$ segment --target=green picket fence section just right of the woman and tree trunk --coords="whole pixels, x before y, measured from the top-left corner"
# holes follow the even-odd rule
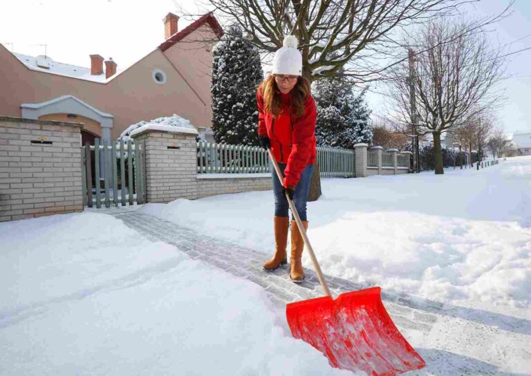
[[[333,147],[317,147],[319,173],[322,178],[354,178],[355,151]]]

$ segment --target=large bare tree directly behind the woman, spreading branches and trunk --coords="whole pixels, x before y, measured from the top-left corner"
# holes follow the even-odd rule
[[[354,0],[256,1],[204,0],[216,9],[223,23],[238,23],[264,57],[282,46],[285,35],[295,35],[302,53],[302,75],[313,82],[345,75],[358,82],[379,77],[400,48],[389,37],[412,23],[426,22],[444,12],[454,12],[461,0]],[[205,40],[202,40],[205,41]],[[380,56],[375,59],[376,54]],[[309,201],[321,195],[319,166],[310,181]]]

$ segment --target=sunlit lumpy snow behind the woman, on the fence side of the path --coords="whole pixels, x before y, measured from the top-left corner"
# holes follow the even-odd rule
[[[322,191],[308,203],[308,236],[326,274],[444,303],[530,308],[531,157],[444,176],[328,178]],[[263,250],[265,260],[273,203],[272,191],[259,191],[142,211]],[[303,263],[312,268],[307,252]]]

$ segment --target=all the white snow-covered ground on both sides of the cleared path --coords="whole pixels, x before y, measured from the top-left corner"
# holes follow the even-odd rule
[[[485,312],[477,341],[464,341],[481,326],[466,315],[408,339],[490,374],[531,374],[531,157],[444,176],[323,179],[322,191],[308,203],[308,236],[326,274]],[[264,259],[272,250],[272,191],[139,210]],[[0,375],[351,374],[292,339],[258,285],[101,212],[0,223],[0,240]]]

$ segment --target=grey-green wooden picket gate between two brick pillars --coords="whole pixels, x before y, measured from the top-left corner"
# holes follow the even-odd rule
[[[102,203],[105,207],[145,203],[144,169],[144,151],[131,140],[115,143],[96,138],[93,145],[86,142],[82,147],[83,205],[100,208]]]

